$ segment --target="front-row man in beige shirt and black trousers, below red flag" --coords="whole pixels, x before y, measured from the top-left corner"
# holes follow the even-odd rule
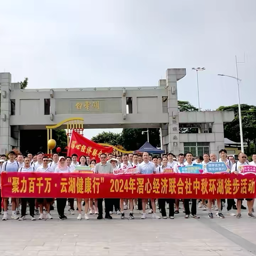
[[[100,155],[100,163],[95,165],[95,173],[104,173],[104,174],[113,173],[113,168],[110,163],[107,163],[107,155],[105,153],[102,153]],[[103,203],[103,198],[98,198],[98,209],[99,209],[99,215],[97,217],[98,220],[103,219],[102,203]],[[111,198],[105,198],[105,219],[108,219],[108,220],[112,219],[112,217],[109,214],[110,211],[113,211],[113,203],[111,201]]]

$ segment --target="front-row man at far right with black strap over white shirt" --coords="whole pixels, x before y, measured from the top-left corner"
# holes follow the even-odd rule
[[[236,162],[232,169],[231,169],[231,173],[236,173],[239,174],[241,173],[241,168],[239,168],[239,166],[242,165],[248,165],[248,163],[246,162],[247,156],[244,153],[239,153],[238,154],[238,162]],[[245,199],[247,201],[247,206],[248,206],[248,217],[251,218],[255,218],[255,216],[252,214],[252,208],[253,208],[253,200],[252,198],[246,198]],[[242,201],[243,199],[237,199],[237,215],[236,218],[241,218],[241,205],[242,205]]]

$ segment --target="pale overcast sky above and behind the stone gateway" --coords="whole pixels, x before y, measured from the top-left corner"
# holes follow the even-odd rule
[[[255,0],[11,0],[0,4],[0,72],[29,89],[156,86],[186,68],[178,99],[255,104]],[[106,129],[107,131],[109,129]],[[86,130],[87,138],[102,129]],[[121,129],[113,130],[121,132]]]

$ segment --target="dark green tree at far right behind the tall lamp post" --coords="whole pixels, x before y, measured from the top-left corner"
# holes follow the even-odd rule
[[[217,111],[234,111],[232,122],[224,124],[224,136],[235,142],[241,142],[239,130],[238,105],[220,106]],[[250,154],[251,142],[256,146],[256,106],[241,104],[243,139],[247,143],[246,151]]]

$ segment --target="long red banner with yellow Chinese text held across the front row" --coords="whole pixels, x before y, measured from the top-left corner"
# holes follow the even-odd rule
[[[255,198],[255,174],[2,173],[2,197]]]

